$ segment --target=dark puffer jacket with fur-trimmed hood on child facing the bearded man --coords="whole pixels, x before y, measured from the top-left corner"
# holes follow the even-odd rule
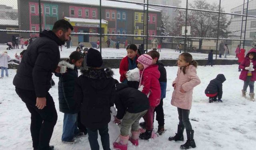
[[[75,81],[78,78],[78,71],[74,64],[63,60],[58,65],[67,66],[67,72],[64,74],[55,73],[59,77],[58,96],[60,112],[75,114],[79,111],[74,100]]]

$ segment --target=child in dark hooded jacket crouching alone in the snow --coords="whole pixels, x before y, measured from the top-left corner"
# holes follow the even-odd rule
[[[209,97],[209,103],[216,102],[218,97],[218,102],[222,102],[222,83],[226,81],[224,74],[218,74],[217,77],[210,81],[204,93]]]

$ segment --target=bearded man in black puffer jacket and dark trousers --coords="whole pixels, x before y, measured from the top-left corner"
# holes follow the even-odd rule
[[[52,72],[60,72],[61,46],[69,39],[73,27],[66,20],[58,20],[53,29],[40,33],[23,54],[14,77],[16,93],[31,113],[30,131],[34,150],[52,150],[49,146],[57,121],[57,112],[49,94]]]

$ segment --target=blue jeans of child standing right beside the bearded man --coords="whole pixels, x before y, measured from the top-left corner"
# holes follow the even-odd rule
[[[79,133],[77,128],[77,114],[64,113],[62,141],[70,141]]]

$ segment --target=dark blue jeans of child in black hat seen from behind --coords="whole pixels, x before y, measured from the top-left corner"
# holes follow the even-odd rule
[[[102,143],[103,150],[110,150],[108,124],[99,129],[92,130],[87,128],[87,130],[91,150],[100,150],[100,146],[98,143],[98,130],[100,133],[100,140]]]

